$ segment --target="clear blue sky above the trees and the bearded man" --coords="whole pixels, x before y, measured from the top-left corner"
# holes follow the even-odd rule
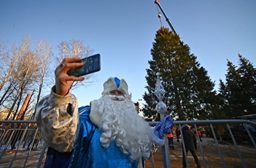
[[[160,0],[177,33],[191,48],[216,89],[225,80],[227,59],[238,53],[256,63],[256,0]],[[160,28],[154,0],[0,0],[0,41],[82,40],[102,56],[98,81],[73,93],[79,106],[98,99],[110,76],[124,78],[138,101],[146,91],[150,49]],[[160,10],[159,10],[160,11]],[[169,27],[162,15],[162,24]]]

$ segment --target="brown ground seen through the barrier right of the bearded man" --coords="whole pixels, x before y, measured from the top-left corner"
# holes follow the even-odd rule
[[[204,154],[205,162],[207,168],[223,168],[223,163],[220,158],[220,154],[217,150],[215,141],[213,138],[202,138],[201,142],[202,151]],[[182,145],[181,142],[177,142],[174,139],[175,149],[169,149],[170,159],[171,159],[171,168],[182,168]],[[241,159],[235,148],[234,144],[231,142],[226,142],[220,145],[220,150],[223,155],[224,162],[227,168],[243,168]],[[256,168],[256,149],[250,144],[238,145],[238,149],[241,152],[241,155],[245,161],[247,168]],[[201,154],[200,148],[197,149],[198,158],[201,162],[202,168],[206,168],[203,162],[203,156]],[[196,168],[194,159],[190,152],[188,152],[188,162],[190,168]],[[152,159],[151,159],[152,160]],[[151,160],[147,160],[145,167],[153,168]],[[157,152],[153,155],[154,168],[163,168],[162,163],[162,149],[158,149]]]

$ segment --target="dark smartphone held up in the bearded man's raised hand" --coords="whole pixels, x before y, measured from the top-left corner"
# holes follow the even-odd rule
[[[85,57],[79,62],[83,62],[83,66],[70,69],[67,72],[69,76],[84,76],[100,70],[100,54]]]

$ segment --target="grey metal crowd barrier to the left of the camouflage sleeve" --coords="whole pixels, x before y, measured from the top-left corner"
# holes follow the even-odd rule
[[[46,144],[35,121],[0,121],[0,168],[40,168]]]

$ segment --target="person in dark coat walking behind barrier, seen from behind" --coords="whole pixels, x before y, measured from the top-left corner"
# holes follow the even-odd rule
[[[182,132],[182,139],[185,146],[186,156],[187,156],[187,152],[190,151],[192,156],[194,157],[197,168],[201,168],[201,163],[198,160],[198,157],[195,152],[195,150],[197,149],[195,134],[193,133],[193,131],[190,130],[190,126],[187,124],[182,125],[181,129],[182,131],[179,131],[179,132]],[[182,145],[182,165],[183,165],[182,168],[187,168],[183,145]]]

